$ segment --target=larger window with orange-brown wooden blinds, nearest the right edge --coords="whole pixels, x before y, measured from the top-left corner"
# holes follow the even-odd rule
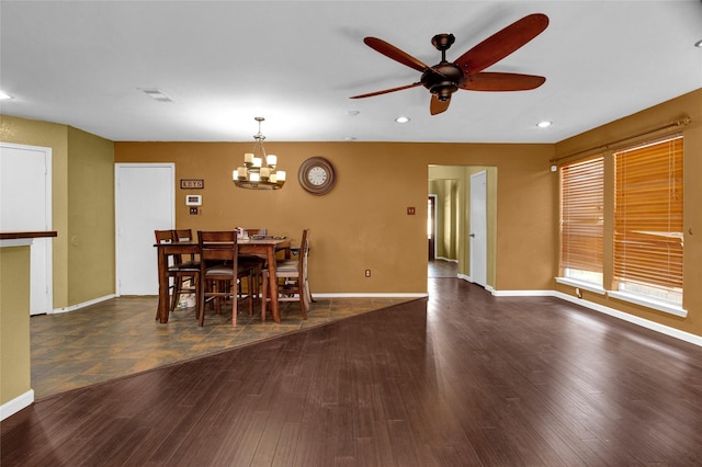
[[[682,138],[614,153],[614,282],[682,303]]]

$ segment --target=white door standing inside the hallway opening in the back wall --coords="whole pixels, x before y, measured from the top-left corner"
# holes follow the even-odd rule
[[[471,175],[471,281],[487,286],[487,171]]]

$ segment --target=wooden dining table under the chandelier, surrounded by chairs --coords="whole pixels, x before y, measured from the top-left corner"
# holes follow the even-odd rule
[[[248,237],[238,239],[237,244],[240,255],[256,254],[265,257],[270,277],[275,277],[275,263],[279,252],[284,252],[285,259],[291,258],[291,241],[287,238]],[[170,243],[155,243],[154,247],[157,248],[158,257],[158,317],[159,322],[167,323],[170,315],[168,259],[172,254],[197,254],[200,250],[200,243],[197,243],[196,241],[173,241]],[[269,297],[271,297],[273,321],[281,322],[275,281],[269,281]]]

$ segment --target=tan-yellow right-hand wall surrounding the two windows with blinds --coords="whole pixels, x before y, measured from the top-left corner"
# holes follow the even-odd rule
[[[692,119],[689,125],[630,138],[631,136],[642,135],[643,133],[659,128],[671,122],[679,121],[683,115]],[[700,175],[702,175],[702,90],[681,95],[660,105],[561,141],[556,145],[556,156],[562,158],[561,161],[569,162],[589,155],[604,153],[605,163],[609,163],[611,167],[611,157],[609,155],[611,155],[613,150],[676,132],[681,132],[684,137],[684,284],[682,305],[683,308],[688,310],[687,318],[630,305],[607,296],[588,293],[587,291],[584,292],[584,298],[647,320],[702,335],[702,184],[700,183]],[[558,176],[555,173],[552,176],[552,192],[553,198],[558,200]],[[558,218],[557,202],[555,203],[555,208],[554,217]],[[611,217],[611,209],[609,214],[605,212],[605,216],[608,215]],[[610,221],[609,225],[611,224]],[[556,224],[553,228],[554,235],[556,236],[557,229],[558,225]],[[556,271],[555,274],[557,274],[557,243],[554,243],[553,257],[556,261],[553,264],[553,269]],[[612,253],[609,251],[604,254],[604,271],[611,271],[611,269]],[[611,274],[605,274],[605,285],[611,283]],[[608,288],[610,287],[611,285]],[[569,286],[554,283],[553,288],[574,295],[574,289]]]

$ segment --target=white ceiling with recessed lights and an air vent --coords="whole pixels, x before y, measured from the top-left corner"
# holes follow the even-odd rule
[[[434,65],[433,35],[453,60],[537,12],[546,31],[486,70],[536,90],[460,90],[435,116],[422,87],[349,99],[419,80],[365,36]],[[702,87],[699,0],[1,0],[0,26],[0,112],[115,141],[252,141],[263,116],[269,141],[556,143]]]

